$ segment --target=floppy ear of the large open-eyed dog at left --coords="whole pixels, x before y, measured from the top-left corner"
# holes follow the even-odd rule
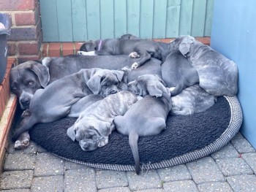
[[[50,74],[49,74],[49,69],[46,66],[43,66],[42,64],[39,63],[34,63],[31,64],[30,70],[37,74],[38,80],[43,88],[46,87],[50,80]]]

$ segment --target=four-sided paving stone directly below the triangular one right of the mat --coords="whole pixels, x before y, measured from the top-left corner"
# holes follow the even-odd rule
[[[216,163],[226,177],[236,174],[253,174],[243,158],[222,158],[217,159]]]

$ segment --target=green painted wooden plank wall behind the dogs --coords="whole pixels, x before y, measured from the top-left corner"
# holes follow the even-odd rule
[[[40,0],[44,42],[211,36],[214,0]]]

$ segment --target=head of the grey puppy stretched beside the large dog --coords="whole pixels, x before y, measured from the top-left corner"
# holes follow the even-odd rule
[[[94,95],[106,97],[118,92],[118,84],[123,77],[123,71],[101,69],[95,72],[86,84]]]

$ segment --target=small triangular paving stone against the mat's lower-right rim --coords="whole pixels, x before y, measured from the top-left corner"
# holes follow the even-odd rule
[[[217,152],[211,154],[214,159],[217,158],[238,158],[239,153],[236,148],[229,142],[225,147],[222,147]]]

